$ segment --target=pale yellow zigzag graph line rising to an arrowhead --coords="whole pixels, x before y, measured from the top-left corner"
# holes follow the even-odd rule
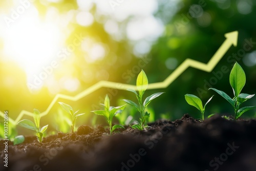
[[[216,65],[219,63],[221,58],[225,55],[225,53],[228,51],[228,49],[233,45],[234,47],[237,46],[238,41],[238,31],[233,31],[230,33],[225,34],[225,41],[221,45],[221,47],[216,51],[216,53],[211,57],[211,59],[207,63],[203,63],[194,59],[187,58],[185,59],[180,66],[178,66],[165,80],[162,82],[155,82],[148,84],[147,89],[164,89],[167,88],[170,84],[173,83],[187,68],[195,68],[201,71],[205,72],[211,72]],[[82,91],[81,93],[75,95],[75,96],[69,96],[65,94],[57,94],[51,103],[49,104],[46,111],[41,112],[41,117],[46,116],[50,110],[52,109],[53,105],[58,101],[58,99],[66,99],[70,101],[77,101],[83,97],[86,97],[87,95],[95,92],[96,90],[100,88],[112,88],[117,90],[127,90],[127,89],[134,89],[137,90],[135,85],[132,84],[124,84],[119,82],[111,82],[111,81],[99,81],[93,86],[89,87],[88,89]],[[29,111],[20,111],[19,115],[15,120],[9,117],[9,122],[12,124],[16,124],[24,115],[28,115],[33,117],[33,113]],[[4,117],[4,113],[0,111],[0,116]]]

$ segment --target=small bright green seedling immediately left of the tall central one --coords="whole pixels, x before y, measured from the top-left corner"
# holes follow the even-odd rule
[[[91,112],[95,113],[96,115],[102,115],[106,118],[106,121],[108,121],[109,123],[110,135],[112,135],[113,131],[116,130],[117,128],[124,129],[122,125],[118,125],[118,124],[112,126],[112,120],[115,115],[122,113],[126,104],[117,106],[117,107],[110,106],[110,98],[108,95],[106,95],[104,104],[101,104],[101,105],[104,106],[104,110],[91,111]]]

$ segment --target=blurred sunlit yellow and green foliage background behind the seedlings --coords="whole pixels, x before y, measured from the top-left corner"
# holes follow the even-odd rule
[[[230,72],[237,60],[247,76],[243,93],[254,94],[256,43],[249,51],[244,46],[256,42],[255,17],[253,0],[0,1],[0,111],[8,110],[12,119],[22,110],[43,112],[58,93],[75,96],[100,80],[135,84],[141,69],[150,83],[163,81],[186,58],[208,62],[225,41],[224,34],[236,30],[238,46],[230,47],[214,72],[223,66]],[[231,96],[229,72],[211,86]],[[199,111],[186,103],[184,95],[195,94],[205,103],[216,94],[204,89],[212,77],[216,77],[213,72],[189,68],[168,88],[148,90],[145,96],[166,92],[150,104],[150,120],[175,120],[186,113],[199,118]],[[77,126],[106,125],[90,112],[100,109],[105,94],[113,106],[124,104],[123,98],[136,100],[131,92],[101,88],[78,101],[58,101],[86,113]],[[253,98],[246,105],[255,103]],[[207,107],[206,116],[233,114],[217,94]],[[138,113],[127,106],[122,115],[136,118]],[[255,110],[243,115],[255,116]],[[69,132],[68,117],[56,103],[41,124],[49,124],[48,134]],[[31,134],[17,128],[16,134]]]

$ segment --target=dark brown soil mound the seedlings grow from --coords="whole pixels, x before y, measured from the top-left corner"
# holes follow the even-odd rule
[[[256,170],[256,120],[216,115],[200,122],[184,115],[148,125],[112,136],[101,126],[82,125],[76,133],[58,133],[42,143],[35,137],[15,146],[9,142],[8,168],[1,162],[0,170]]]

